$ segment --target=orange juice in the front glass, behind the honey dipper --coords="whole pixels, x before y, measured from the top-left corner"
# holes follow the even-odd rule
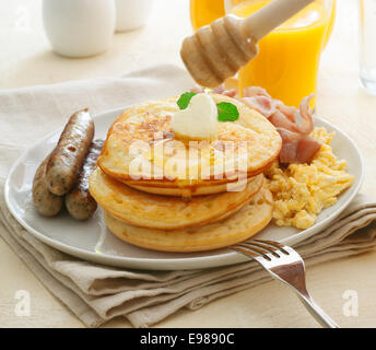
[[[270,0],[243,1],[232,13],[246,18]],[[259,42],[259,55],[238,73],[238,88],[265,88],[273,98],[298,106],[316,92],[320,54],[331,19],[324,3],[310,3]]]

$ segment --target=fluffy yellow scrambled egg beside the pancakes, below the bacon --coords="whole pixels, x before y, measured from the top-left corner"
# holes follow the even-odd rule
[[[344,171],[345,161],[338,160],[330,147],[334,132],[315,128],[312,136],[322,145],[309,165],[290,164],[282,168],[275,162],[266,172],[279,226],[310,228],[317,214],[332,206],[354,182],[354,176]]]

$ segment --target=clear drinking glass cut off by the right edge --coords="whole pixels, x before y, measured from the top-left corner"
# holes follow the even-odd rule
[[[360,80],[376,95],[376,0],[359,0]]]

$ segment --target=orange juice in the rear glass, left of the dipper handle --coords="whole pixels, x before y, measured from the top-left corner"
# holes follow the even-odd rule
[[[190,21],[195,31],[224,14],[224,0],[190,0]]]

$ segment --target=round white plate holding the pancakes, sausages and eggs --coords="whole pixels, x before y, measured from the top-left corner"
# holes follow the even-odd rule
[[[104,139],[106,137],[109,125],[122,109],[110,110],[95,117],[96,138]],[[359,149],[346,135],[329,122],[316,118],[316,125],[337,132],[332,140],[332,148],[340,159],[346,160],[349,173],[355,176],[354,184],[340,196],[334,206],[324,210],[318,215],[314,226],[298,231],[269,224],[257,237],[295,245],[328,226],[359,191],[364,175],[363,160]],[[39,215],[32,203],[32,182],[37,166],[46,154],[54,149],[60,132],[61,130],[46,137],[23,154],[11,168],[5,183],[5,201],[9,210],[38,240],[85,260],[134,269],[201,269],[246,260],[243,255],[225,248],[190,254],[160,253],[138,248],[118,240],[108,232],[102,220],[101,209],[85,222],[78,222],[66,212],[52,219]]]

